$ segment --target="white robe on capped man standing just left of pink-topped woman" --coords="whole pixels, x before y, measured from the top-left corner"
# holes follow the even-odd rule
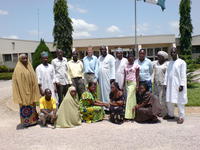
[[[119,60],[116,58],[115,60],[115,79],[119,84],[119,88],[123,89],[124,87],[124,69],[128,64],[128,60],[126,58],[122,58]]]

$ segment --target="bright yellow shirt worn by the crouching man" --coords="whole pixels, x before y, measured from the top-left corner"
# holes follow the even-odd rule
[[[47,101],[45,99],[45,96],[40,98],[40,109],[49,109],[53,110],[56,109],[56,100],[54,98],[51,98],[50,101]]]

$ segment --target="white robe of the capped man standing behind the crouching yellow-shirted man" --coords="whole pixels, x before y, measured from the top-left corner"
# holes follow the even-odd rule
[[[57,99],[54,87],[56,77],[53,65],[48,64],[48,66],[44,66],[43,64],[40,64],[36,68],[36,75],[38,84],[41,85],[42,90],[44,91],[46,88],[49,88],[51,90],[52,97]]]

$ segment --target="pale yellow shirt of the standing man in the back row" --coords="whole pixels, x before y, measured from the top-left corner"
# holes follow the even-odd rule
[[[68,62],[68,65],[69,65],[68,73],[71,79],[77,77],[83,78],[83,63],[80,60],[77,60],[77,62],[70,60]]]

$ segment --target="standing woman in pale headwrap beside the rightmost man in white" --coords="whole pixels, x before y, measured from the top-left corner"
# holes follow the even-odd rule
[[[165,51],[159,51],[158,60],[153,65],[154,69],[154,94],[158,96],[160,104],[162,106],[161,116],[167,115],[166,105],[166,90],[164,87],[165,72],[168,66],[168,54]]]

